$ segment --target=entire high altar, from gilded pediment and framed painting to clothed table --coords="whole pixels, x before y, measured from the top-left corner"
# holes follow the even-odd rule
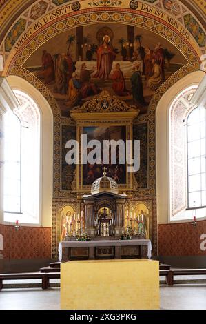
[[[103,157],[99,163],[85,162],[91,152],[89,140],[133,140],[133,123],[139,112],[107,91],[70,112],[79,143],[72,183],[77,199],[62,204],[60,210],[57,241],[61,261],[151,258],[152,201],[136,199],[134,172],[128,171],[127,161],[120,163],[120,156],[126,153],[116,148],[115,164],[110,159],[105,163]]]

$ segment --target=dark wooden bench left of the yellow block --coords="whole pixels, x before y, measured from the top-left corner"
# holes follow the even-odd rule
[[[43,290],[50,287],[50,279],[60,279],[59,272],[52,273],[25,273],[25,274],[0,274],[0,290],[3,289],[3,280],[23,280],[23,279],[41,279],[41,287]]]

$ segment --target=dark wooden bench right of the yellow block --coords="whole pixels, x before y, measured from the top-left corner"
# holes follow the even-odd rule
[[[166,277],[166,283],[169,286],[174,285],[174,276],[198,276],[203,274],[206,274],[206,269],[160,270],[160,276]]]

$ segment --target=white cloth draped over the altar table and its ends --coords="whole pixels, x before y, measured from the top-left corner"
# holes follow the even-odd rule
[[[62,260],[62,250],[65,247],[99,247],[99,246],[131,246],[147,245],[147,257],[152,258],[152,243],[150,240],[104,240],[104,241],[62,241],[59,243],[59,261]]]

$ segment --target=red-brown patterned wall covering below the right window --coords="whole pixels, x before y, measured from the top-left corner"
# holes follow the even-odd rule
[[[199,221],[196,227],[191,223],[158,225],[159,256],[205,255],[200,250],[200,236],[206,233],[206,221]]]

